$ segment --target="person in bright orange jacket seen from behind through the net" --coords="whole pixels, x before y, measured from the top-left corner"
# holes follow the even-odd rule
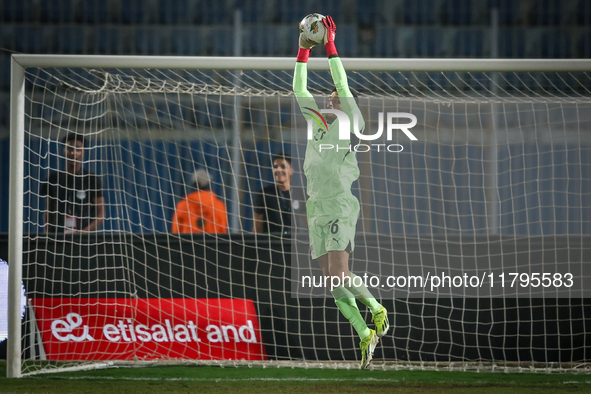
[[[193,176],[197,191],[187,195],[176,206],[172,218],[173,233],[227,233],[228,214],[224,203],[210,190],[207,171]]]

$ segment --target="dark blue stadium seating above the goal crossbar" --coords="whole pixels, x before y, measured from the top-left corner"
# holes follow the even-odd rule
[[[1,41],[3,48],[23,53],[231,56],[236,7],[242,12],[244,54],[290,56],[290,35],[316,4],[0,0]],[[589,56],[582,38],[591,25],[587,0],[328,0],[322,11],[340,22],[339,37],[347,42],[339,47],[343,56],[488,57],[493,8],[503,27],[501,57]],[[557,30],[540,30],[559,27],[556,35],[551,32]]]

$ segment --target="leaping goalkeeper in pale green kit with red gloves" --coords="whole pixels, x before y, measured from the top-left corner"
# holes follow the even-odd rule
[[[325,276],[345,279],[331,293],[339,310],[361,339],[361,368],[366,368],[373,358],[379,338],[386,335],[390,325],[386,308],[371,295],[361,278],[354,280],[356,275],[349,271],[349,254],[355,248],[355,227],[359,215],[359,201],[351,193],[351,185],[359,177],[359,167],[355,153],[349,148],[350,133],[354,121],[358,122],[360,132],[365,128],[365,122],[351,94],[345,69],[335,47],[336,24],[330,16],[322,22],[326,27],[324,44],[335,83],[327,107],[329,110],[344,112],[349,118],[351,130],[347,133],[348,139],[340,140],[336,114],[327,116],[330,124],[324,122],[320,115],[307,89],[307,61],[314,44],[300,34],[293,90],[304,117],[317,127],[312,138],[308,136],[304,160],[304,173],[308,181],[306,209],[310,247],[312,258],[318,259]],[[333,148],[326,148],[330,146]],[[356,299],[371,310],[375,330],[367,326]]]

